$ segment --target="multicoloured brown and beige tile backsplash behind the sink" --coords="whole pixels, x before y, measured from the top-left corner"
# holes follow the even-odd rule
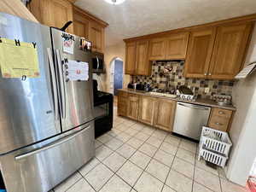
[[[184,61],[154,61],[151,76],[131,76],[131,81],[143,84],[150,83],[154,87],[165,88],[168,78],[162,72],[166,65],[172,66],[172,72],[169,73],[169,88],[186,85],[195,90],[195,96],[201,98],[209,98],[215,94],[228,96],[232,94],[233,81],[184,78]],[[205,93],[206,88],[209,88],[208,93]]]

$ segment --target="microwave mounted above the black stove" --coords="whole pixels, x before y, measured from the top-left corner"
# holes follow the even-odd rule
[[[104,54],[92,53],[92,73],[105,73]]]

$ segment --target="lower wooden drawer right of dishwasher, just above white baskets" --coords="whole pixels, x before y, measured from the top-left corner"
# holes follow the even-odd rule
[[[209,121],[209,127],[214,128],[219,131],[227,131],[230,124],[230,119],[212,116]]]

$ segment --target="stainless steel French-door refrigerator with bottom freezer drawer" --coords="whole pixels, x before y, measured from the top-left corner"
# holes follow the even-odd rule
[[[0,38],[34,42],[40,77],[0,73],[0,167],[9,192],[46,192],[95,155],[91,54],[62,49],[63,32],[0,13]],[[88,81],[67,81],[63,63],[89,63]],[[1,61],[0,61],[1,65]]]

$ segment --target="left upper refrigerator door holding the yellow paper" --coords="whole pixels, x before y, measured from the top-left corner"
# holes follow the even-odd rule
[[[0,20],[6,20],[0,22],[1,38],[37,44],[40,73],[22,80],[4,79],[0,72],[0,154],[5,154],[60,134],[61,124],[49,27],[3,13]]]

